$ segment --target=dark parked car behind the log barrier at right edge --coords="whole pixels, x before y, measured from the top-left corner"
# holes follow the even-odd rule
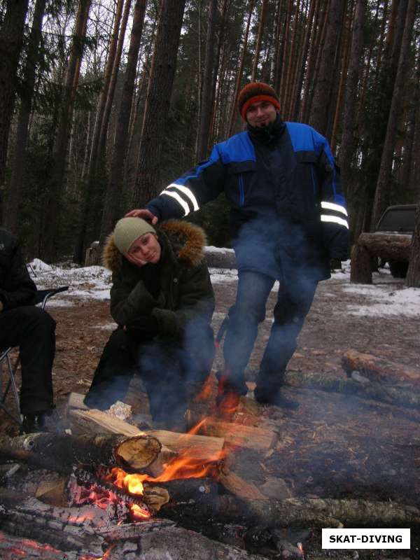
[[[414,221],[416,204],[398,204],[390,206],[382,214],[375,232],[387,235],[412,235],[414,232]],[[389,269],[394,278],[405,278],[407,276],[408,262],[404,260],[390,260]],[[384,265],[381,262],[380,265]]]

